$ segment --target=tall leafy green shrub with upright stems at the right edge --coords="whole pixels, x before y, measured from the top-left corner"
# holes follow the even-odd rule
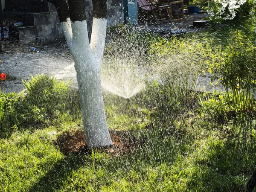
[[[213,67],[213,73],[221,76],[221,83],[227,92],[231,91],[236,111],[252,112],[256,91],[256,47],[237,30],[233,33],[222,61]]]

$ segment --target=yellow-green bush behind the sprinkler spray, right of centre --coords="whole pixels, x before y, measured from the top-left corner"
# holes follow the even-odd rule
[[[154,73],[159,76],[171,77],[188,81],[193,75],[204,73],[211,60],[212,49],[209,44],[202,44],[199,40],[186,40],[173,37],[162,39],[151,45],[149,51],[154,67]],[[189,82],[191,84],[191,82]]]

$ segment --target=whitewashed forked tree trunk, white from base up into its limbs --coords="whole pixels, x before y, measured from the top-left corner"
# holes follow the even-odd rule
[[[66,0],[48,1],[55,6],[58,6],[59,2],[67,3]],[[61,15],[61,26],[75,62],[84,132],[89,147],[112,145],[106,122],[100,80],[100,64],[105,47],[107,24],[107,1],[104,1],[104,5],[99,5],[98,8],[97,5],[103,2],[102,0],[93,4],[93,6],[96,5],[96,14],[93,18],[94,27],[91,44],[87,32],[85,1],[68,0],[68,7],[59,6],[57,8],[57,10],[61,9],[58,11],[58,15]],[[66,11],[62,10],[67,10],[67,8],[70,18],[66,17]],[[104,18],[97,16],[99,12],[104,13],[98,14],[105,15]]]

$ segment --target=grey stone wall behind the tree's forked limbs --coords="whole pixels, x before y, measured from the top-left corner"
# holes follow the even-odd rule
[[[85,0],[87,26],[89,34],[92,31],[93,3]],[[108,26],[119,23],[122,0],[108,0]],[[64,34],[58,20],[57,10],[52,4],[49,5],[49,13],[33,14],[35,26],[20,27],[19,39],[24,42],[37,42],[42,44],[60,42],[64,40]],[[121,22],[123,19],[121,20]]]

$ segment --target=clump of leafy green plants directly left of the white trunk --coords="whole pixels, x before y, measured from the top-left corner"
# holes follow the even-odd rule
[[[80,112],[78,91],[63,81],[38,75],[23,84],[25,94],[2,93],[0,96],[0,137],[17,129],[51,125],[61,113],[77,115]]]

